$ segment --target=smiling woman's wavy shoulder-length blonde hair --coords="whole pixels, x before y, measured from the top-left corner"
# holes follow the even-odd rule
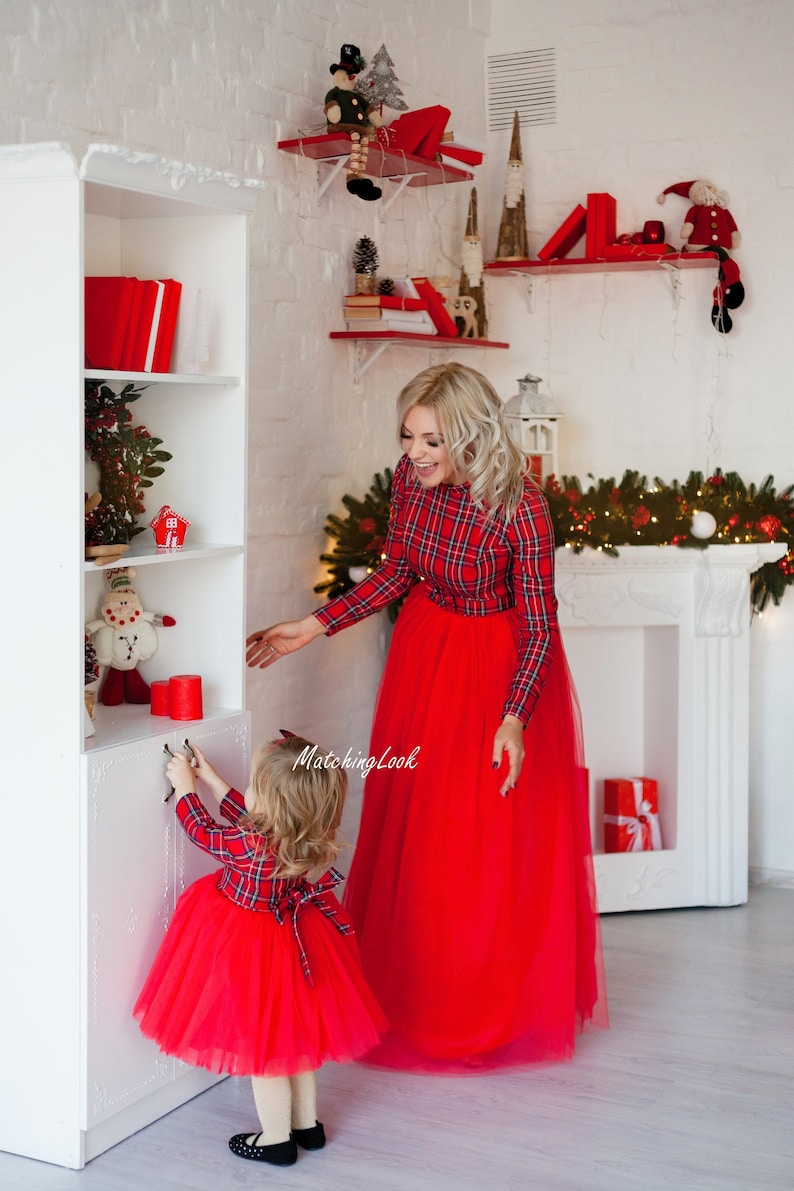
[[[515,515],[526,460],[505,425],[504,404],[482,373],[465,364],[426,368],[398,397],[398,437],[414,405],[432,410],[450,462],[469,482],[474,503],[492,517]]]

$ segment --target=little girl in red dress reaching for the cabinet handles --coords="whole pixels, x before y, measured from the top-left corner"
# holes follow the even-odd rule
[[[183,753],[168,762],[176,816],[223,868],[182,893],[133,1012],[165,1054],[251,1075],[260,1130],[229,1146],[292,1166],[299,1146],[325,1146],[317,1068],[357,1058],[386,1029],[333,893],[340,874],[329,868],[348,778],[331,754],[290,735],[258,749],[240,794],[193,752],[193,765]],[[231,827],[212,818],[196,779]]]

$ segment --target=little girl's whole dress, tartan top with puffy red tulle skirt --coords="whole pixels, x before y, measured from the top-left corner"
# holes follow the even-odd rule
[[[220,810],[233,827],[196,794],[176,804],[193,842],[224,867],[180,897],[133,1009],[142,1031],[219,1074],[295,1075],[362,1055],[387,1023],[333,893],[340,874],[274,879],[238,791]]]

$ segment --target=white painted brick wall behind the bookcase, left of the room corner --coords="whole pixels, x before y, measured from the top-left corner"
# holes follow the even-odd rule
[[[110,141],[268,180],[251,220],[251,629],[320,601],[326,513],[394,463],[394,398],[430,362],[390,351],[354,387],[350,349],[327,332],[343,328],[356,239],[376,241],[383,272],[455,273],[469,193],[412,188],[381,222],[342,179],[318,202],[317,167],[276,142],[323,124],[348,40],[365,57],[385,42],[411,107],[443,102],[483,137],[488,21],[474,0],[0,0],[0,141],[77,155]],[[365,752],[383,622],[251,673],[255,735],[289,727]]]

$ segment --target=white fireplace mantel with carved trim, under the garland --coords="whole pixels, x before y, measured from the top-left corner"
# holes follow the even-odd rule
[[[557,551],[602,911],[748,898],[750,575],[786,543]],[[661,852],[604,852],[604,779],[655,778]]]

